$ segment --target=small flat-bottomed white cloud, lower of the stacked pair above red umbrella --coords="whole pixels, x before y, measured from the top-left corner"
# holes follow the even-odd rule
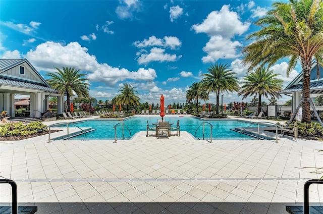
[[[180,59],[182,56],[176,56],[174,53],[170,55],[169,53],[164,53],[165,49],[153,47],[150,49],[149,53],[141,53],[140,57],[138,58],[139,64],[147,64],[152,61],[157,62],[174,62]]]

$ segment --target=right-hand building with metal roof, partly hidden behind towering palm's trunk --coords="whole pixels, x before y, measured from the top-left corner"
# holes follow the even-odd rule
[[[310,97],[314,98],[323,93],[323,68],[319,66],[319,78],[317,78],[317,63],[312,61],[310,82],[309,82],[309,93]],[[292,110],[295,110],[302,100],[303,90],[303,72],[300,72],[289,85],[282,90],[280,93],[292,96]]]

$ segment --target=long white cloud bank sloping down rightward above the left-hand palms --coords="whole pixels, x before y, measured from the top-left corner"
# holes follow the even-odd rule
[[[157,77],[154,69],[140,68],[138,71],[128,71],[107,64],[99,64],[95,56],[89,55],[86,47],[78,42],[71,42],[66,46],[56,42],[39,44],[35,50],[30,50],[25,56],[37,70],[55,71],[53,67],[75,67],[87,71],[87,78],[91,81],[102,82],[113,86],[119,81],[133,79],[137,81],[152,81]]]

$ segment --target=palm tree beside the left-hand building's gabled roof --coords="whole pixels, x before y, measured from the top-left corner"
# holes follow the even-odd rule
[[[55,67],[56,68],[56,67]],[[67,96],[67,109],[66,112],[70,111],[70,96],[73,95],[73,91],[78,97],[88,97],[89,96],[89,84],[85,81],[88,80],[84,78],[85,74],[79,73],[80,70],[75,68],[63,67],[63,71],[56,68],[56,73],[47,73],[46,76],[51,77],[47,80],[48,84],[58,90],[61,95]]]

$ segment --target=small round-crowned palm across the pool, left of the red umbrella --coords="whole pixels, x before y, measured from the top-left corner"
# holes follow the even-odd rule
[[[123,84],[123,87],[121,87],[118,91],[121,92],[121,94],[118,94],[116,96],[116,103],[127,105],[127,112],[129,111],[129,105],[139,105],[140,104],[140,98],[136,95],[138,94],[138,91],[134,90],[135,87],[131,86],[130,84]]]

